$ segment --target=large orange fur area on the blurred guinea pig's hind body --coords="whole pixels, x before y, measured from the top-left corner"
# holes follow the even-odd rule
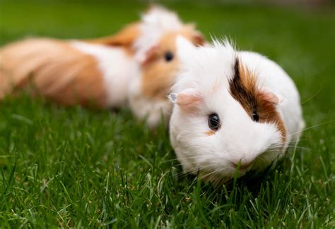
[[[59,104],[105,106],[106,92],[95,58],[56,39],[28,39],[0,53],[0,87],[5,93],[30,85]],[[6,61],[4,61],[6,60]]]

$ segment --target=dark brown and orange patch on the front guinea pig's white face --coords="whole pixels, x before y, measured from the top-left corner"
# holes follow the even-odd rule
[[[251,118],[252,113],[257,112],[259,123],[276,123],[283,136],[283,142],[285,142],[286,129],[276,111],[276,106],[267,99],[266,94],[259,91],[256,76],[242,66],[238,58],[235,61],[234,77],[230,80],[230,94],[240,102]]]

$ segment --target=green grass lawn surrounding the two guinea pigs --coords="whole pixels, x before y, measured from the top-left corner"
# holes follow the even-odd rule
[[[131,8],[129,8],[131,6]],[[0,227],[334,228],[334,11],[171,2],[206,37],[225,35],[292,76],[307,130],[273,171],[215,190],[180,175],[168,132],[128,110],[0,103]],[[145,8],[98,1],[0,1],[0,44],[96,37]],[[127,12],[127,13],[125,13]]]

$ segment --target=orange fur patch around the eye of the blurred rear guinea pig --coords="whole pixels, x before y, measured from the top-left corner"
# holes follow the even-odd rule
[[[175,41],[178,35],[189,39],[194,45],[204,44],[204,39],[195,38],[202,37],[202,35],[189,27],[163,35],[154,52],[150,53],[150,58],[143,65],[142,92],[148,98],[165,100],[177,77],[180,63],[176,54]],[[174,55],[172,61],[165,61],[164,56],[167,51]]]

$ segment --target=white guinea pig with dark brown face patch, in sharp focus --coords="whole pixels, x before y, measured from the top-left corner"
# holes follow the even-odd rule
[[[293,80],[274,61],[229,42],[177,38],[170,140],[184,172],[221,185],[281,159],[305,126]]]

